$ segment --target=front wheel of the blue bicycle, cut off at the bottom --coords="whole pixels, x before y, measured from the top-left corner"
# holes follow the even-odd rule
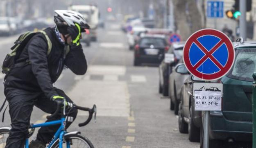
[[[88,138],[77,134],[66,135],[65,141],[66,142],[62,144],[63,148],[94,148]],[[59,148],[59,140],[56,140],[51,148]]]

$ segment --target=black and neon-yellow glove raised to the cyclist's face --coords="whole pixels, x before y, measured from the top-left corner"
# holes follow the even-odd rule
[[[68,27],[68,33],[72,38],[72,44],[78,46],[80,44],[81,28],[78,24]]]

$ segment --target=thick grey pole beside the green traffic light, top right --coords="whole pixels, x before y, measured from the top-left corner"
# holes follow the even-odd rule
[[[240,36],[246,40],[246,0],[239,0],[239,11],[241,12],[241,16],[239,18]]]

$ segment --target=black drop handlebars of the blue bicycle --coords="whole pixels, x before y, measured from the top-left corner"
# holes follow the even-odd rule
[[[47,119],[50,119],[50,118],[53,118],[55,116],[57,116],[57,114],[59,113],[59,111],[61,110],[61,106],[63,105],[64,103],[64,100],[63,101],[55,101],[57,103],[57,109],[55,110],[55,112],[49,116],[47,116],[46,118]],[[73,107],[73,108],[76,108],[78,110],[84,110],[84,111],[88,111],[89,112],[89,117],[88,119],[84,122],[84,123],[79,123],[78,126],[81,127],[81,126],[86,126],[92,119],[93,117],[93,113],[94,113],[94,121],[96,122],[96,105],[94,104],[93,105],[93,108],[84,108],[82,106],[77,106],[75,105],[74,103],[68,103],[70,107]]]

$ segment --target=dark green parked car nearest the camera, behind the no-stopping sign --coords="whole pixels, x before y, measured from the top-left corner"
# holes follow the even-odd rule
[[[256,72],[256,41],[235,42],[233,47],[235,63],[219,80],[223,83],[222,111],[210,112],[209,148],[221,148],[225,141],[226,144],[239,141],[251,144],[252,141],[252,74]],[[202,126],[200,132],[202,146]]]

